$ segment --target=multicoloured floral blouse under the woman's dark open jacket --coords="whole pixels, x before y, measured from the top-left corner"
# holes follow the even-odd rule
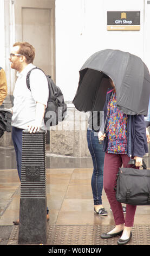
[[[127,154],[127,115],[116,106],[116,93],[108,102],[107,153]]]

